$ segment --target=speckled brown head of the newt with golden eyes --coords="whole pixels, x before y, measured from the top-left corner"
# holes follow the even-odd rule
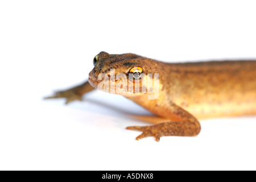
[[[100,52],[93,59],[89,83],[98,90],[126,97],[152,94],[159,89],[159,63],[133,53]]]

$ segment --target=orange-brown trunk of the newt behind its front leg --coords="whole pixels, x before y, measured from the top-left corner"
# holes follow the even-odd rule
[[[167,65],[163,90],[197,118],[256,114],[256,61]]]

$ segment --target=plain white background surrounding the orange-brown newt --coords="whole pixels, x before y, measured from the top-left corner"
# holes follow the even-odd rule
[[[256,169],[256,117],[198,137],[135,140],[150,114],[121,96],[43,101],[87,80],[100,51],[163,61],[256,58],[255,1],[1,1],[0,169]]]

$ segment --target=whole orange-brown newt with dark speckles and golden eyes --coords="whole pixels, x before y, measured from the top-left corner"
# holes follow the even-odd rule
[[[105,92],[121,94],[159,117],[144,119],[154,125],[126,128],[142,132],[137,140],[155,137],[159,141],[163,136],[193,137],[200,133],[200,118],[256,114],[255,60],[164,63],[133,53],[100,52],[94,57],[93,64],[88,81],[46,98],[66,98],[66,104],[82,100],[83,94],[104,88],[102,78],[106,78],[105,85],[114,86],[111,89],[109,86]],[[121,78],[115,78],[120,73]],[[146,87],[146,92],[142,92],[145,83],[142,75],[150,80],[148,75],[156,74],[158,85]],[[156,82],[153,76],[151,81]],[[135,84],[139,85],[139,92],[135,92]],[[152,93],[158,93],[158,97],[149,99]]]

